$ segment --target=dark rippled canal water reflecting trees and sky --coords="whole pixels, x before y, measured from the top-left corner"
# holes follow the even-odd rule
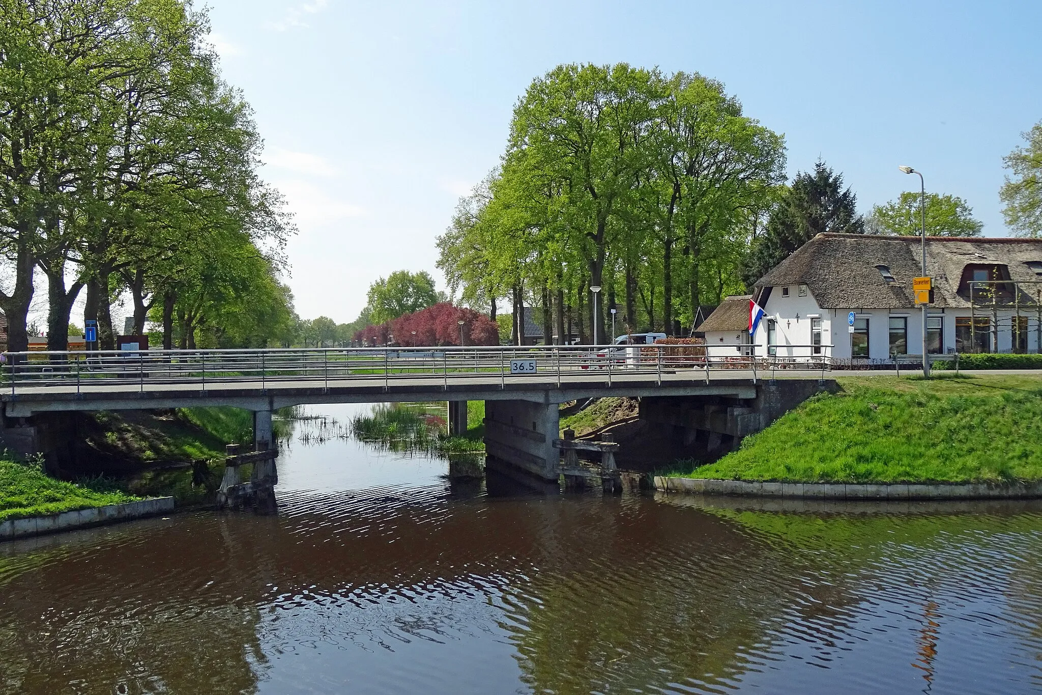
[[[275,517],[0,546],[0,692],[1042,690],[1038,504],[546,495],[336,431]]]

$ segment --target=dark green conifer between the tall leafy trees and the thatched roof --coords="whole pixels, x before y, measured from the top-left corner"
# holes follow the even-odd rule
[[[843,188],[843,176],[825,163],[813,172],[800,172],[782,194],[767,228],[752,245],[742,269],[747,288],[785,260],[793,251],[822,232],[865,233],[858,215],[858,197]]]

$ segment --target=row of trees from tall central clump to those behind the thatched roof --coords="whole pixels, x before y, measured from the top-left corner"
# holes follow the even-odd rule
[[[783,138],[713,79],[560,66],[519,100],[501,164],[460,200],[438,265],[492,318],[511,297],[515,322],[530,302],[556,334],[574,320],[580,341],[599,343],[606,307],[630,329],[680,332],[815,233],[912,231],[910,198],[865,220],[824,163],[791,184],[785,164]],[[927,208],[936,233],[981,231],[959,198]],[[591,288],[602,289],[596,322]]]

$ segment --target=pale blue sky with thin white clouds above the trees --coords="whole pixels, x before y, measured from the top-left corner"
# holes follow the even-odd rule
[[[458,196],[502,153],[511,110],[560,63],[699,72],[859,207],[962,196],[1004,235],[1002,156],[1042,120],[1039,2],[210,0],[226,79],[255,109],[265,176],[300,233],[298,313],[351,321],[366,289],[435,272]],[[439,280],[441,280],[440,276]]]

